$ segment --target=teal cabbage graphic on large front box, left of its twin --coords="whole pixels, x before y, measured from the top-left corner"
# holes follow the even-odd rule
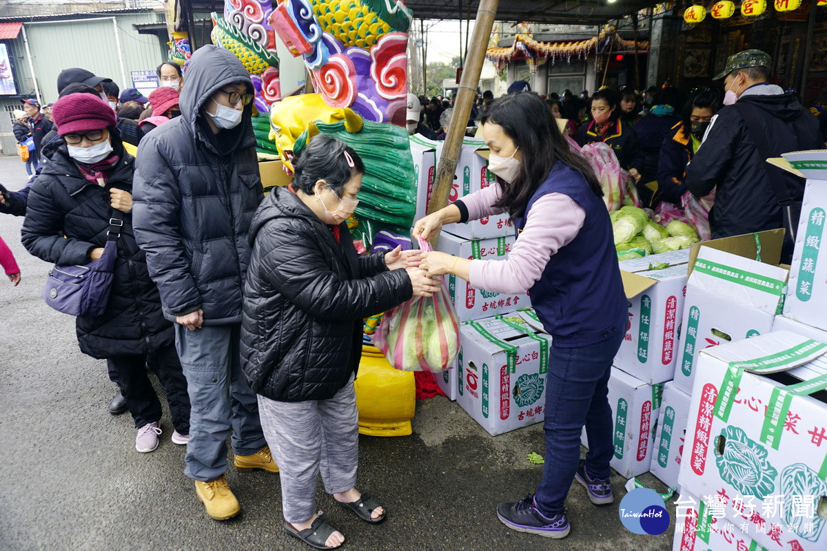
[[[719,442],[714,443],[715,463],[720,477],[743,496],[763,499],[775,489],[777,471],[767,461],[767,449],[753,442],[737,426],[727,426],[719,438],[724,438],[723,453]]]

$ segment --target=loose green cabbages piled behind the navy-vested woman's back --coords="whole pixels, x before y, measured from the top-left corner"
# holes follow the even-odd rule
[[[649,219],[647,211],[636,207],[622,207],[610,212],[614,232],[614,247],[618,259],[637,259],[647,254],[686,249],[699,241],[692,226],[673,220],[666,227]]]

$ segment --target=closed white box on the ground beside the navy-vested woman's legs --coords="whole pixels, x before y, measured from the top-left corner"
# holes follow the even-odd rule
[[[463,324],[457,404],[490,435],[543,420],[551,339],[520,316]]]

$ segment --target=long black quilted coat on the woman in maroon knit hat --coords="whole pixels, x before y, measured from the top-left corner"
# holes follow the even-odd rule
[[[56,150],[31,184],[22,230],[26,249],[52,264],[91,262],[92,249],[107,241],[109,189],[131,192],[134,161],[122,152],[107,187],[101,188],[79,173],[65,145]],[[135,242],[132,216],[120,215],[123,227],[107,309],[101,316],[76,318],[80,349],[98,359],[143,355],[174,342],[172,324],[160,311],[158,287],[146,270],[146,255]]]

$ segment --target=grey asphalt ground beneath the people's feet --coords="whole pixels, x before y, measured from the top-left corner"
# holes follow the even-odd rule
[[[0,157],[0,183],[22,188],[16,157]],[[184,448],[169,439],[139,454],[130,416],[111,416],[114,392],[103,361],[81,354],[74,321],[41,299],[49,268],[20,244],[22,218],[0,215],[0,236],[22,268],[22,283],[0,279],[0,549],[310,549],[282,530],[279,477],[230,468],[237,518],[208,518],[183,474]],[[162,400],[163,401],[163,400]],[[319,493],[318,504],[347,541],[343,549],[671,549],[674,520],[660,536],[629,533],[613,506],[595,507],[575,484],[567,501],[571,535],[552,541],[500,524],[495,506],[517,501],[539,481],[528,463],[543,453],[541,425],[491,437],[455,403],[417,404],[414,435],[361,437],[358,486],[380,498],[389,519],[361,523]],[[662,490],[651,475],[643,482]],[[667,504],[674,518],[674,500]]]

